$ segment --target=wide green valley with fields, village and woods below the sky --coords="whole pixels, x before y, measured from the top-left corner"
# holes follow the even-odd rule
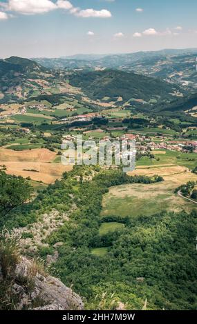
[[[195,54],[0,60],[0,230],[86,310],[196,308]],[[64,165],[77,135],[135,141],[135,170]]]

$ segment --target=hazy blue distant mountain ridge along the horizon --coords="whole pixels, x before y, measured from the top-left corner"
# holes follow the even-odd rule
[[[35,59],[46,68],[53,69],[86,69],[99,68],[133,71],[138,74],[169,79],[182,83],[187,88],[197,88],[196,73],[197,48],[185,50],[160,50],[153,52],[134,52],[129,54],[86,55],[57,59]],[[185,83],[185,81],[187,81]],[[190,84],[189,84],[190,83]]]

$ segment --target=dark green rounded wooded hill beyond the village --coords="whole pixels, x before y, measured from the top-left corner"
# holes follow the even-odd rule
[[[162,97],[161,100],[171,100],[172,93],[177,89],[176,85],[159,79],[118,70],[75,72],[69,81],[71,85],[82,88],[82,91],[93,99],[122,97],[123,101],[132,98],[149,101],[153,97]]]

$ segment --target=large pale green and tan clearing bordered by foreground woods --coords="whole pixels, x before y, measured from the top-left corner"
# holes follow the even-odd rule
[[[158,171],[153,170],[154,174]],[[165,170],[167,173],[168,168]],[[141,171],[141,170],[140,170]],[[144,170],[143,170],[144,171]],[[154,172],[155,171],[155,172]],[[135,172],[138,174],[138,170]],[[185,201],[174,190],[180,184],[187,181],[197,181],[197,176],[191,172],[180,174],[168,174],[165,181],[152,183],[150,185],[131,184],[112,187],[103,198],[103,210],[101,216],[126,216],[138,217],[140,215],[151,216],[165,210],[187,212],[196,208],[194,203]]]

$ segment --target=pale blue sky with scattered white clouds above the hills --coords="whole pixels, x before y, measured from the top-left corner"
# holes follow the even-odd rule
[[[197,48],[196,0],[0,0],[0,57]]]

